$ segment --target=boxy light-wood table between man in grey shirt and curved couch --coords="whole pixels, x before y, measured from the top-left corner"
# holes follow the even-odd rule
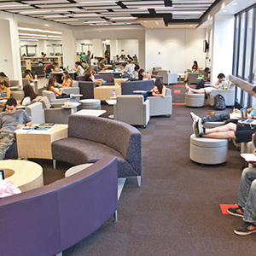
[[[20,158],[53,159],[51,143],[67,137],[67,125],[55,125],[47,133],[16,133],[18,156]]]

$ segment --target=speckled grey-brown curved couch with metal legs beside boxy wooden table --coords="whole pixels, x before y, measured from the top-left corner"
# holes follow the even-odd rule
[[[142,134],[131,125],[112,119],[72,114],[68,137],[52,143],[56,160],[80,165],[95,163],[105,155],[118,159],[118,177],[137,176],[141,185]]]

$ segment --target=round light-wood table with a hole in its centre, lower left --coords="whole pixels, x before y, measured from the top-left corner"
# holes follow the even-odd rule
[[[27,160],[0,160],[5,177],[24,192],[44,186],[43,168]]]

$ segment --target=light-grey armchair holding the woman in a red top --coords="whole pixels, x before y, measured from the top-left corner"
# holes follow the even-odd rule
[[[172,90],[166,88],[166,96],[149,96],[149,115],[168,115],[172,114]]]

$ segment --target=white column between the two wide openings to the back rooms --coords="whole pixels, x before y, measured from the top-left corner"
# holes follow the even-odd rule
[[[76,39],[72,30],[62,31],[63,67],[75,67],[77,61]]]

